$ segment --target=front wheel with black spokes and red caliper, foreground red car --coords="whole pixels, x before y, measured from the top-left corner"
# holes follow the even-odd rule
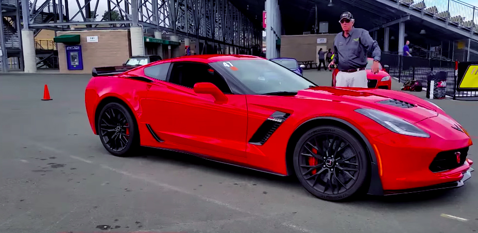
[[[353,134],[337,126],[318,126],[304,133],[295,147],[293,164],[304,188],[323,200],[350,200],[367,186],[366,150]]]

